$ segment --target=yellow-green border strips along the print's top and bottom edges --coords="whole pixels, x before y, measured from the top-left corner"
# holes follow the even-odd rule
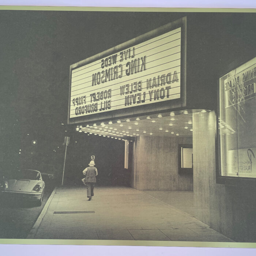
[[[0,10],[10,11],[112,11],[112,12],[244,12],[255,13],[254,8],[153,8],[153,7],[69,7],[69,6],[14,6],[2,5]],[[127,240],[61,240],[61,239],[0,239],[0,244],[25,245],[123,245],[123,246],[175,246],[212,248],[256,248],[256,243],[236,242],[184,242],[184,241],[127,241]]]

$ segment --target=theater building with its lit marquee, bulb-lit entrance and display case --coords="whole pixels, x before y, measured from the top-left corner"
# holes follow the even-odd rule
[[[255,15],[240,13],[180,14],[113,42],[71,65],[68,124],[116,140],[131,187],[193,191],[197,219],[255,242],[255,42]]]

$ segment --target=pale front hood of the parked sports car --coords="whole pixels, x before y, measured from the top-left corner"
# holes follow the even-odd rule
[[[33,188],[35,185],[40,185],[44,188],[44,181],[38,180],[8,180],[8,188],[9,191],[17,191],[17,192],[35,192]]]

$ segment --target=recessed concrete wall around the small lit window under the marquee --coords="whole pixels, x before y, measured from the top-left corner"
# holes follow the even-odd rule
[[[193,190],[192,175],[178,174],[178,144],[192,144],[192,137],[139,136],[134,144],[132,187]]]

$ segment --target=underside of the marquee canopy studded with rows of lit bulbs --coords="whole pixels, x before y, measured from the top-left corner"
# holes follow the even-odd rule
[[[136,136],[192,136],[192,113],[208,110],[182,110],[110,120],[101,123],[78,125],[76,131],[88,135],[104,136],[112,139],[127,139]]]

